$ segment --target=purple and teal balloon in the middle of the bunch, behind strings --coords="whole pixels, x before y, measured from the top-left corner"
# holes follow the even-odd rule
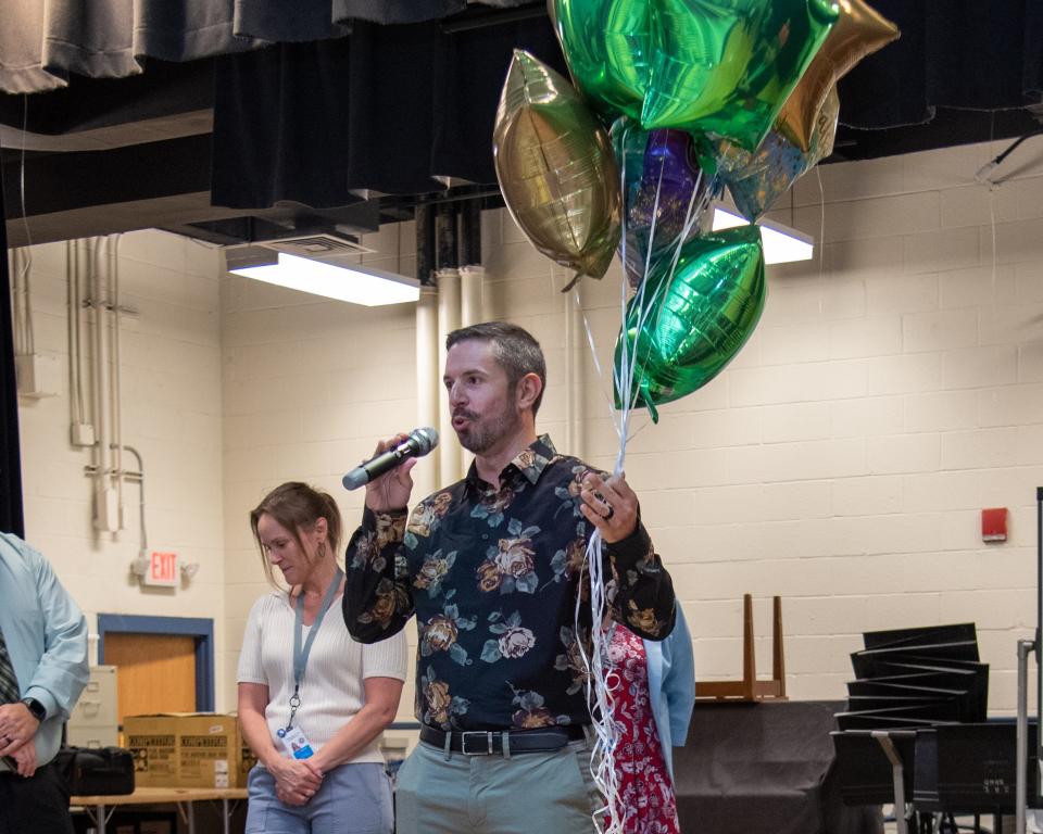
[[[684,223],[692,219],[690,211],[695,214],[707,205],[709,181],[700,169],[691,134],[641,130],[626,119],[617,121],[612,132],[624,172],[626,238],[620,253],[627,280],[637,288],[646,265],[651,267],[664,255],[673,255],[686,242],[680,240]],[[696,216],[686,240],[698,233]]]

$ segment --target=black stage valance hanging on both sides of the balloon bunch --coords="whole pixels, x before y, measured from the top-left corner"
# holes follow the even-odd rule
[[[439,2],[452,0],[422,5]],[[844,124],[888,128],[928,122],[937,108],[1040,101],[1040,0],[874,5],[903,35],[841,81]],[[287,200],[329,207],[353,202],[353,189],[423,193],[441,188],[435,177],[495,182],[490,137],[514,47],[564,70],[546,17],[455,34],[437,22],[356,21],[337,40],[222,56],[214,204],[259,208]]]

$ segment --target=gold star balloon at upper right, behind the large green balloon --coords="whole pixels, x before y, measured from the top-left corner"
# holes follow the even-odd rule
[[[840,17],[786,100],[776,129],[802,151],[810,148],[830,89],[866,55],[896,40],[899,27],[863,0],[837,0]]]

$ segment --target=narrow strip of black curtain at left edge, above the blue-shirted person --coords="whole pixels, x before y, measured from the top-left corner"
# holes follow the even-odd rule
[[[0,218],[3,218],[3,169],[0,168]],[[18,389],[14,379],[11,276],[7,226],[0,222],[0,530],[25,536],[22,520],[22,455],[18,448]]]

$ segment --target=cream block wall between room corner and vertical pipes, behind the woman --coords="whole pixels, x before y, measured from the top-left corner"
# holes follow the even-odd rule
[[[363,242],[380,252],[366,263],[416,271],[412,224],[387,226]],[[338,501],[347,544],[362,518],[364,492],[345,492],[341,477],[370,456],[377,439],[417,425],[415,315],[412,304],[362,307],[229,274],[222,323],[229,635],[223,694],[234,708],[247,616],[271,590],[250,510],[284,481],[305,481]],[[409,686],[400,713],[412,720],[412,681]]]

